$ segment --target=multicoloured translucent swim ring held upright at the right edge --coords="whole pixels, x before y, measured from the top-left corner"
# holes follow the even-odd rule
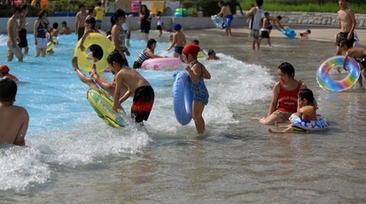
[[[326,59],[323,64],[319,67],[316,73],[316,79],[320,87],[326,91],[342,91],[349,89],[355,82],[361,73],[360,65],[353,58],[348,58],[346,67],[348,75],[345,79],[340,81],[334,81],[331,79],[329,73],[332,68],[340,67],[343,69],[343,56],[335,56],[330,59]]]

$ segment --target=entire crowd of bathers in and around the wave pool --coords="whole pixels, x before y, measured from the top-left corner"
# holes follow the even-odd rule
[[[352,57],[357,59],[362,67],[362,70],[366,66],[366,50],[362,47],[354,47],[354,28],[356,26],[354,12],[347,7],[347,0],[339,0],[340,10],[339,26],[340,32],[336,35],[335,44],[337,45],[336,54],[345,54],[346,57]],[[270,30],[272,25],[278,29],[284,29],[281,25],[281,16],[271,16],[269,12],[263,12],[261,6],[263,0],[256,0],[256,6],[253,6],[246,16],[249,18],[250,39],[252,42],[253,50],[260,50],[261,39],[265,38],[270,42]],[[222,16],[225,25],[225,32],[227,35],[231,35],[230,24],[232,21],[232,14],[221,1],[218,3],[221,8],[221,12],[217,15]],[[97,33],[101,28],[101,23],[105,15],[105,10],[101,4],[97,4],[96,8],[86,11],[85,5],[80,5],[80,12],[75,17],[75,33],[78,35],[78,40],[81,39],[78,49],[85,50],[83,42],[90,33]],[[27,44],[27,21],[26,16],[28,12],[27,4],[23,7],[14,9],[12,17],[8,20],[7,30],[7,45],[8,54],[7,59],[11,61],[13,55],[15,55],[19,61],[23,60],[23,53],[21,51],[24,48],[24,54],[28,53]],[[41,11],[38,16],[38,20],[35,20],[34,24],[34,36],[35,36],[35,57],[46,55],[47,43],[52,42],[52,39],[58,35],[71,34],[71,30],[67,27],[66,22],[62,22],[62,29],[58,31],[58,23],[53,23],[52,27],[47,20],[48,12]],[[106,82],[103,77],[97,74],[96,66],[93,64],[90,67],[90,77],[84,75],[77,63],[77,57],[74,57],[71,62],[74,67],[76,75],[80,80],[90,86],[90,89],[103,89],[106,90],[114,98],[113,111],[117,112],[122,109],[121,104],[128,98],[133,96],[133,103],[131,106],[131,116],[136,122],[147,121],[152,111],[154,103],[154,90],[151,84],[143,75],[140,75],[137,68],[141,67],[144,60],[154,58],[164,58],[166,56],[159,56],[154,53],[157,41],[149,39],[148,34],[151,29],[151,21],[155,16],[158,20],[157,30],[161,32],[166,28],[161,20],[161,12],[154,15],[150,12],[146,5],[141,5],[140,9],[140,29],[143,34],[143,39],[147,42],[146,48],[136,56],[133,67],[129,67],[127,56],[130,55],[128,51],[128,40],[130,30],[128,30],[128,16],[127,14],[118,9],[111,17],[111,29],[107,32],[108,37],[114,44],[115,50],[108,54],[107,63],[108,67],[112,70],[114,75],[113,82]],[[300,34],[301,39],[307,39],[311,34],[310,30]],[[199,41],[194,40],[192,43],[187,43],[185,35],[183,34],[183,27],[175,23],[173,25],[173,35],[167,51],[174,49],[173,57],[180,58],[185,64],[185,71],[191,77],[191,90],[193,90],[193,113],[192,118],[195,122],[196,129],[199,135],[205,132],[205,121],[202,117],[204,107],[208,103],[208,90],[204,80],[210,79],[211,75],[206,67],[199,62],[198,55],[201,51],[199,47]],[[90,47],[90,51],[93,54],[94,60],[101,60],[103,55],[98,51],[98,48]],[[215,51],[209,50],[206,60],[220,59],[216,56]],[[344,65],[347,58],[345,58]],[[343,67],[347,69],[347,67]],[[13,114],[14,121],[12,129],[4,130],[1,127],[6,125],[0,124],[0,144],[12,143],[15,145],[24,145],[24,137],[27,132],[28,115],[27,110],[19,106],[13,106],[15,101],[15,95],[17,92],[17,83],[19,79],[11,75],[10,68],[6,65],[0,66],[0,76],[3,80],[0,82],[0,119],[7,117],[6,115]],[[274,125],[278,122],[288,122],[289,117],[292,114],[298,115],[303,120],[316,120],[316,108],[315,98],[313,92],[308,90],[305,82],[295,79],[295,69],[288,62],[284,62],[278,66],[277,75],[279,81],[273,86],[273,96],[269,106],[267,116],[257,118],[259,122],[265,125]],[[366,76],[365,73],[363,75]],[[360,77],[362,80],[362,77]],[[361,82],[362,84],[362,82]],[[3,121],[3,120],[2,120]],[[5,126],[4,126],[5,127]],[[18,129],[18,130],[17,130]],[[289,132],[291,127],[286,129],[269,129],[269,132]]]

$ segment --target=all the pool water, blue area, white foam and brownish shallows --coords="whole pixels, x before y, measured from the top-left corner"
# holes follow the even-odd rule
[[[273,31],[276,32],[276,31]],[[133,33],[131,66],[145,43]],[[166,51],[168,35],[156,53]],[[205,137],[194,122],[175,120],[175,71],[138,70],[151,82],[155,103],[145,129],[129,123],[113,129],[97,117],[71,66],[76,35],[60,36],[55,53],[35,59],[33,42],[24,62],[7,62],[17,75],[16,105],[30,114],[27,146],[0,148],[0,202],[5,203],[363,203],[364,90],[325,92],[316,82],[319,59],[332,43],[273,38],[252,51],[246,35],[185,31],[221,60],[199,59],[212,75],[203,117]],[[28,40],[33,39],[31,35]],[[4,42],[4,35],[0,35]],[[0,43],[5,60],[6,45]],[[295,78],[314,91],[319,114],[331,129],[309,134],[269,135],[252,120],[266,115],[277,66],[289,61]],[[180,68],[182,70],[183,67]],[[332,74],[333,75],[333,74]],[[337,74],[335,74],[337,75]],[[110,80],[112,75],[106,73]],[[129,110],[131,100],[123,103]]]

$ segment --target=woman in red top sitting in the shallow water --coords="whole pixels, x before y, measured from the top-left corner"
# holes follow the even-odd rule
[[[282,63],[277,73],[280,81],[273,86],[269,114],[267,117],[259,118],[259,121],[265,125],[288,121],[291,114],[297,112],[299,91],[308,88],[304,82],[293,78],[295,69],[288,62]]]

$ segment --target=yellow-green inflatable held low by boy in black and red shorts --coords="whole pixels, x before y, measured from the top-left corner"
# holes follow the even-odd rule
[[[87,98],[97,115],[109,126],[119,129],[125,127],[125,120],[121,113],[113,111],[113,98],[105,90],[90,89]]]

